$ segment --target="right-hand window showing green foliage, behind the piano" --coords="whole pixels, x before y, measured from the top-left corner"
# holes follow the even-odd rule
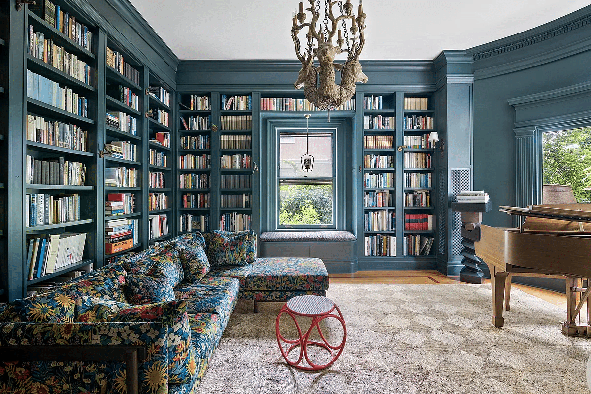
[[[542,182],[568,185],[578,203],[591,202],[591,127],[542,134]]]

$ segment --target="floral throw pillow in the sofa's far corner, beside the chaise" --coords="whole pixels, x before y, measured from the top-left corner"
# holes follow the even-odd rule
[[[252,230],[223,232],[213,230],[207,248],[213,258],[212,265],[252,264],[256,259],[256,235]]]

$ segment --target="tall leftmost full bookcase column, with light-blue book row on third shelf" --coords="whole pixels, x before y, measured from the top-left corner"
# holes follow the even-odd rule
[[[96,262],[97,217],[82,206],[98,203],[97,29],[46,1],[28,6],[25,31],[23,292]]]

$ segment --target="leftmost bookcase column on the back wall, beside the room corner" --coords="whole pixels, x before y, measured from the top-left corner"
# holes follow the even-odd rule
[[[183,93],[178,97],[177,233],[209,232],[212,227],[212,95]],[[216,105],[217,108],[217,105]],[[217,171],[216,171],[217,174]]]

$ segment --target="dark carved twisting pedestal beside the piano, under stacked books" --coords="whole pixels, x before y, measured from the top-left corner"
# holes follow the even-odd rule
[[[480,240],[480,222],[482,213],[491,210],[491,202],[488,203],[452,203],[452,211],[462,213],[462,264],[460,281],[468,283],[484,283],[484,272],[478,266],[484,263],[476,256],[474,243]]]

